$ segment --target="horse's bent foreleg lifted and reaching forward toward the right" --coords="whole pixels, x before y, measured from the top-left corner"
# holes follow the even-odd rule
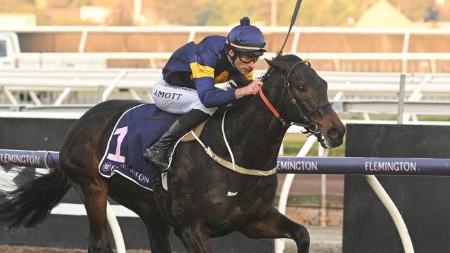
[[[267,216],[250,221],[240,229],[249,238],[291,238],[296,241],[297,252],[309,252],[309,234],[302,225],[289,220],[277,209],[271,208]]]

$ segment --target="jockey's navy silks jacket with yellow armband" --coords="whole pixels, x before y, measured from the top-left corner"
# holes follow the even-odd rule
[[[217,107],[235,100],[235,89],[224,91],[215,84],[240,74],[227,57],[226,37],[213,35],[176,50],[165,64],[163,75],[168,84],[195,88],[204,106]],[[253,71],[246,78],[253,79]]]

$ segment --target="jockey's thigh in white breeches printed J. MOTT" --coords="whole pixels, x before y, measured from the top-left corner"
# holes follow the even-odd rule
[[[217,107],[206,108],[201,104],[199,95],[195,89],[172,86],[164,81],[163,75],[154,84],[152,97],[154,104],[159,109],[168,113],[184,114],[193,109],[197,109],[213,115],[217,110]]]

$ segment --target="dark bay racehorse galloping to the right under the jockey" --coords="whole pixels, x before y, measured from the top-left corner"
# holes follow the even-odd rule
[[[280,116],[275,117],[259,95],[227,111],[224,131],[236,165],[264,171],[276,167],[289,122],[305,123],[317,136],[323,134],[321,142],[327,147],[342,144],[345,127],[327,100],[327,82],[294,55],[268,63],[270,74],[264,77],[262,91]],[[192,253],[212,252],[210,237],[234,231],[249,238],[291,238],[298,252],[309,251],[307,229],[273,207],[276,174],[249,176],[226,169],[198,142],[179,144],[172,158],[168,178],[172,224],[163,219],[151,191],[118,174],[100,176],[98,164],[114,124],[124,111],[141,103],[109,100],[87,111],[66,135],[60,149],[60,168],[12,191],[0,206],[0,223],[31,227],[43,221],[73,187],[89,218],[89,252],[112,252],[107,238],[107,196],[141,217],[152,252],[171,252],[172,227],[187,252]],[[229,160],[221,131],[223,116],[224,111],[215,113],[200,139]]]

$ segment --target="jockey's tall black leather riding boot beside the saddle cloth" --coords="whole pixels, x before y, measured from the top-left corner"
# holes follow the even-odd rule
[[[153,162],[158,169],[165,171],[168,169],[169,161],[167,158],[167,150],[172,144],[181,138],[181,136],[188,133],[194,127],[197,127],[201,122],[208,119],[210,115],[200,110],[191,110],[182,115],[176,120],[167,132],[153,144],[151,147],[145,149],[143,153],[144,158]]]

